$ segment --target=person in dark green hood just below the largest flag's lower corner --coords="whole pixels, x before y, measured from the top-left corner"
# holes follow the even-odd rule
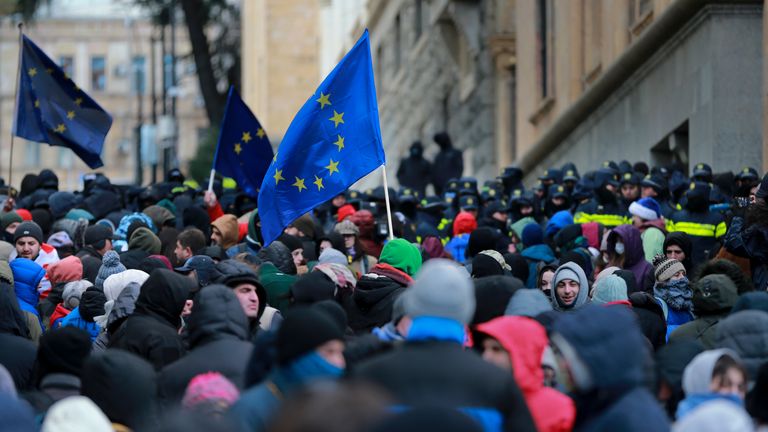
[[[287,309],[291,286],[296,281],[296,264],[290,249],[280,241],[273,241],[260,250],[257,257],[262,261],[259,282],[267,291],[270,305],[280,311]]]

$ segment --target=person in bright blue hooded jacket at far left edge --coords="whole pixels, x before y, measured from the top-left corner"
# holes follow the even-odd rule
[[[16,258],[10,265],[13,272],[13,289],[26,320],[29,338],[37,343],[45,327],[37,310],[39,301],[37,287],[45,277],[45,270],[27,258]]]

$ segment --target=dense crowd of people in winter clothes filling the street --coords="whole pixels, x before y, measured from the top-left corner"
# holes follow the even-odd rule
[[[226,179],[3,186],[0,430],[768,430],[768,175],[418,164],[268,245]]]

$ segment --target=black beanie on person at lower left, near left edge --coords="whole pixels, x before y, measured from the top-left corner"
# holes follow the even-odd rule
[[[76,327],[45,332],[37,349],[38,378],[51,373],[80,376],[83,362],[91,353],[91,337]]]

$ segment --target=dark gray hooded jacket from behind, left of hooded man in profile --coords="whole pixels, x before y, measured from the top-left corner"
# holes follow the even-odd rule
[[[243,389],[253,344],[248,317],[233,290],[223,285],[201,290],[186,329],[189,353],[164,367],[158,377],[163,404],[180,403],[189,381],[205,372],[219,372]]]

